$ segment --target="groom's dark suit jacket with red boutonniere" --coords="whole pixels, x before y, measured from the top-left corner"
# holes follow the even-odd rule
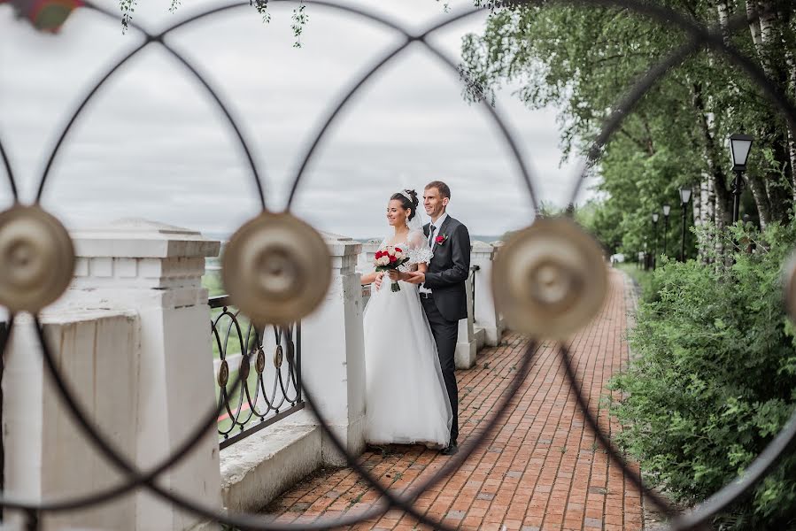
[[[423,234],[428,237],[429,224],[423,226]],[[446,236],[446,239],[434,246],[434,258],[431,258],[424,284],[434,292],[434,302],[445,319],[465,319],[468,302],[464,283],[470,273],[468,227],[449,214],[436,231],[437,236]]]

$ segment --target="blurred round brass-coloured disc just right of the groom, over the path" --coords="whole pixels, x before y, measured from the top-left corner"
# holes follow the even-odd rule
[[[495,257],[491,283],[509,327],[553,340],[586,326],[608,287],[599,245],[567,218],[537,219],[513,235]]]

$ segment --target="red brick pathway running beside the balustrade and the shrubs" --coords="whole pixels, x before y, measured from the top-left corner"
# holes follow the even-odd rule
[[[616,429],[599,409],[605,384],[628,358],[623,341],[629,300],[625,277],[612,271],[610,294],[598,319],[576,336],[572,355],[604,429]],[[499,396],[520,366],[526,341],[506,334],[479,352],[477,367],[457,373],[461,438],[491,417]],[[534,366],[513,397],[511,414],[460,470],[422,496],[416,506],[460,529],[643,529],[638,490],[607,458],[578,412],[553,343],[537,350]],[[442,466],[445,457],[422,446],[368,451],[362,461],[392,489],[405,489]],[[284,522],[305,522],[359,512],[378,499],[350,469],[328,470],[304,481],[267,508]],[[392,510],[356,529],[427,528]]]

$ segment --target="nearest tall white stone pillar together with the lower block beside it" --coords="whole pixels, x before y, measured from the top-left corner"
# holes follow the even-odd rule
[[[215,406],[210,309],[201,277],[205,257],[216,256],[220,243],[194,231],[138,219],[74,232],[72,237],[78,257],[73,285],[44,319],[51,344],[65,372],[80,382],[73,389],[89,412],[97,414],[105,433],[121,441],[120,448],[135,465],[146,469],[182,443],[199,417]],[[41,357],[31,356],[37,349],[29,333],[12,337],[9,370],[15,370],[13,360],[24,360],[27,366],[20,366],[19,379],[4,378],[4,423],[19,419],[20,411],[33,404],[38,430],[4,430],[7,444],[19,444],[15,438],[22,436],[36,449],[28,452],[35,454],[32,457],[26,452],[7,454],[27,459],[13,465],[6,460],[7,467],[19,466],[32,474],[20,479],[19,473],[6,468],[11,472],[8,488],[14,492],[15,481],[22,481],[38,484],[36,496],[55,496],[55,490],[67,485],[58,494],[108,484],[113,473],[101,467],[97,471],[95,464],[102,458],[93,444],[66,427],[58,432],[67,421],[57,418],[58,408],[51,409],[52,387],[43,383]],[[22,382],[30,382],[24,393],[13,387]],[[36,455],[41,459],[38,467]],[[215,429],[205,432],[189,456],[161,475],[159,484],[221,509]],[[98,507],[64,513],[58,522],[145,531],[203,523],[143,491],[118,503],[120,512]]]

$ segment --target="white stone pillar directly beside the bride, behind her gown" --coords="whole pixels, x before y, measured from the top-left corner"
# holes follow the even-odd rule
[[[357,257],[362,244],[322,233],[332,255],[332,284],[321,308],[302,320],[301,380],[346,449],[356,455],[365,447],[365,345],[362,289]],[[323,462],[344,465],[344,456],[326,437]]]

